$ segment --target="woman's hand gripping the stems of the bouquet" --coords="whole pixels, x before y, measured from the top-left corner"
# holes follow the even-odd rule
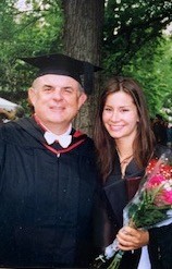
[[[120,249],[134,250],[149,243],[149,232],[139,229],[136,230],[131,227],[123,227],[119,231],[116,239]]]

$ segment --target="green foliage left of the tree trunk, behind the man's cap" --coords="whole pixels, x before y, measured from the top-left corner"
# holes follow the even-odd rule
[[[15,0],[0,4],[0,89],[16,93],[16,99],[33,78],[33,70],[17,59],[61,50],[63,17],[59,1],[25,2],[22,9]]]

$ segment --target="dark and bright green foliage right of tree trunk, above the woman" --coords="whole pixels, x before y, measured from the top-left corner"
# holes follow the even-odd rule
[[[171,1],[107,1],[105,74],[135,77],[145,90],[151,117],[162,113],[167,118],[172,110],[172,40],[163,35],[172,21],[171,10]]]

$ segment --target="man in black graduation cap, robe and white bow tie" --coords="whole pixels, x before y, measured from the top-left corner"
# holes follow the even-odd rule
[[[93,142],[72,121],[87,99],[81,74],[99,68],[63,54],[23,60],[39,69],[35,113],[0,129],[0,266],[84,268],[98,185]]]

